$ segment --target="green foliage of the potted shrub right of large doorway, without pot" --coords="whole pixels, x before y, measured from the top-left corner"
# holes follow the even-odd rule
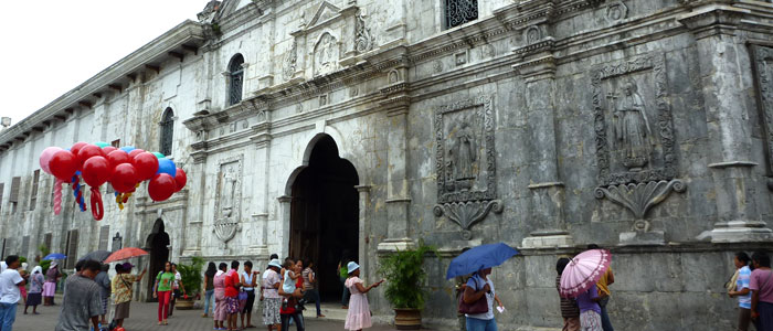
[[[424,256],[435,254],[435,247],[420,242],[415,249],[398,252],[381,259],[379,274],[386,280],[384,296],[394,308],[424,307],[426,290],[422,284],[426,280]]]

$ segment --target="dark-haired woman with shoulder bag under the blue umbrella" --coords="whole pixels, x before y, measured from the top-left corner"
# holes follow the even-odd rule
[[[464,311],[467,318],[467,331],[497,331],[494,301],[497,302],[500,310],[505,308],[499,301],[494,289],[494,281],[488,278],[488,275],[491,275],[491,268],[481,269],[467,280],[459,305],[459,310]]]

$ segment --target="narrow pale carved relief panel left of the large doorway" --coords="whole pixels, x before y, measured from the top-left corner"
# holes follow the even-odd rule
[[[236,232],[242,231],[240,224],[242,206],[242,167],[244,156],[240,154],[220,161],[218,185],[215,191],[215,220],[212,232],[223,242],[222,248],[227,248]]]

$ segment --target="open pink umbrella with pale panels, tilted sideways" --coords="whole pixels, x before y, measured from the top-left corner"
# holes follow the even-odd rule
[[[564,298],[575,298],[591,288],[606,273],[612,254],[606,249],[590,249],[578,254],[561,274],[561,289]]]

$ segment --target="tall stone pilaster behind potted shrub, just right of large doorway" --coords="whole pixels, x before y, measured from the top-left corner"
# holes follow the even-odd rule
[[[410,97],[407,96],[407,83],[404,77],[407,67],[398,67],[388,73],[390,77],[386,87],[381,93],[386,95],[381,106],[386,108],[389,120],[386,150],[386,222],[388,238],[379,244],[379,250],[403,250],[414,246],[409,237],[410,221],[409,206],[411,205],[407,189],[407,111]]]

